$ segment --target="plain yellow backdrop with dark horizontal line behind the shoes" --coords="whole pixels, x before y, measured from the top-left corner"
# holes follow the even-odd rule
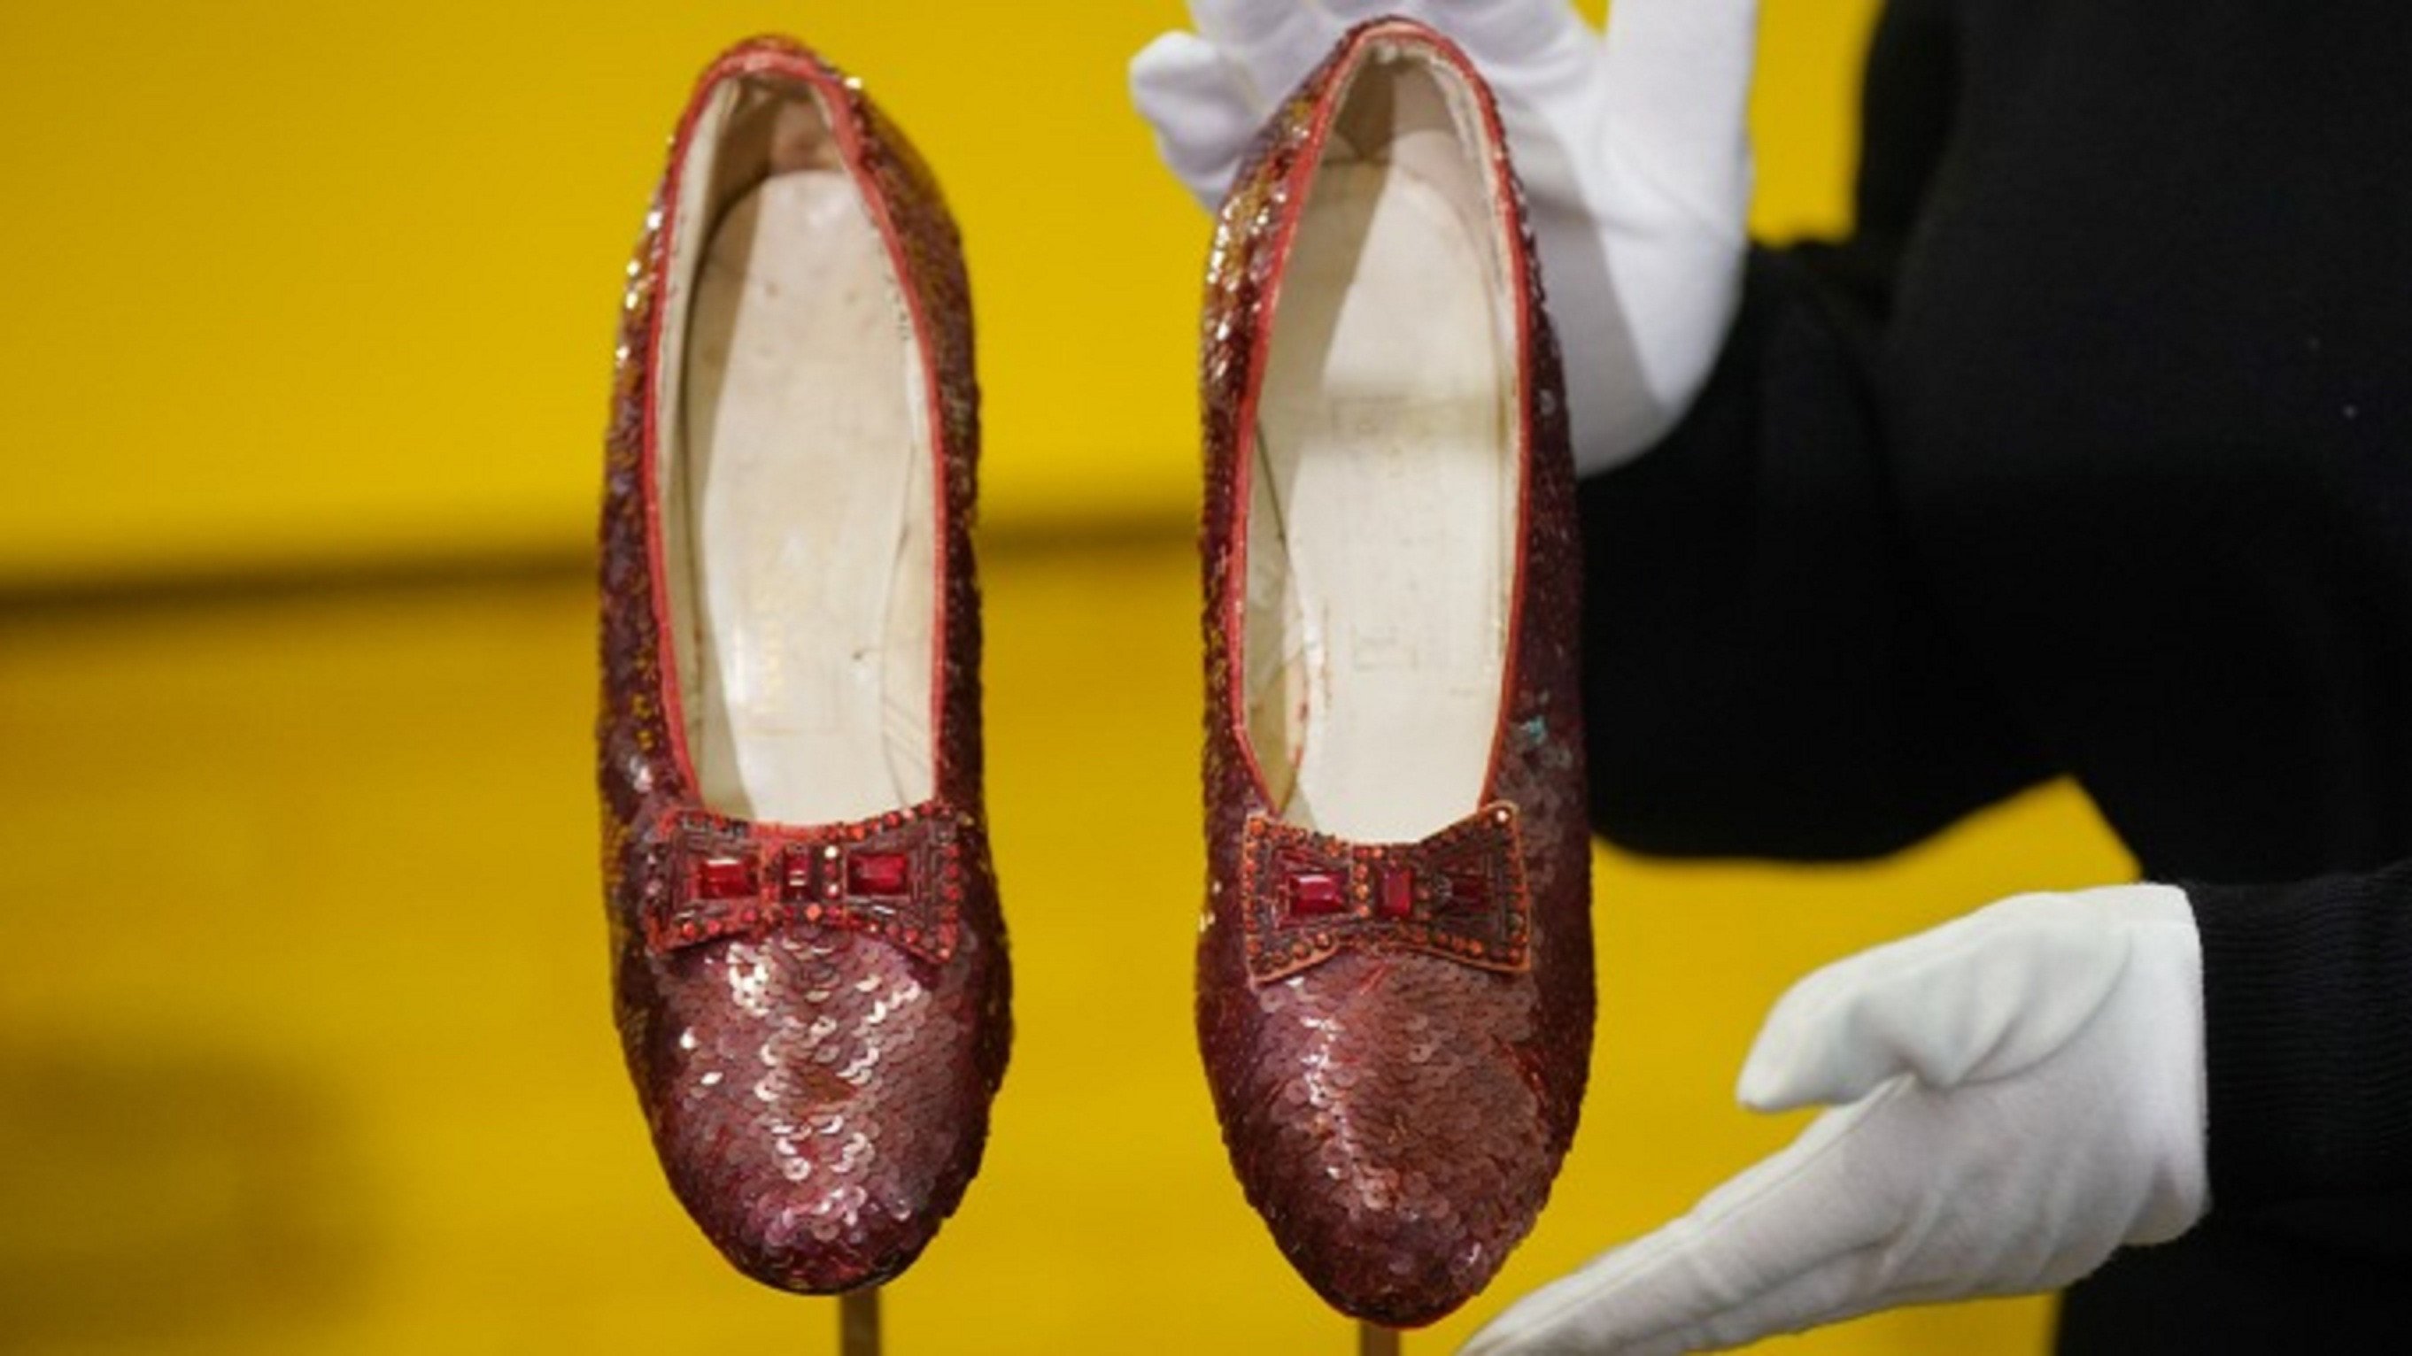
[[[1843,222],[1872,0],[1768,0],[1770,234]],[[979,304],[1015,1066],[892,1351],[1346,1351],[1189,1042],[1204,215],[1179,5],[0,7],[0,1351],[830,1351],[661,1187],[593,871],[620,263],[692,72],[786,29],[948,183]],[[1599,719],[1616,719],[1602,712]],[[1869,869],[1604,854],[1587,1122],[1517,1291],[1782,1144],[1785,982],[2130,871],[2045,789]],[[2033,1351],[2036,1301],[1802,1351]]]

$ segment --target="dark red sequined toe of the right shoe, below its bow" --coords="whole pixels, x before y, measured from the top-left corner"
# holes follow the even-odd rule
[[[1341,955],[1254,989],[1225,1107],[1249,1199],[1334,1308],[1433,1322],[1491,1281],[1549,1197],[1532,987],[1425,955]]]

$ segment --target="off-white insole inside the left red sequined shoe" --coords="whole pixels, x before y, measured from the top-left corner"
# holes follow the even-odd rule
[[[926,799],[921,364],[842,169],[774,174],[728,208],[695,277],[685,372],[680,644],[704,803],[810,825]]]

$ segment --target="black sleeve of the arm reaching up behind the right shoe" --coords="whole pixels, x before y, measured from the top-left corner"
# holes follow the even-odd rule
[[[1946,159],[1942,7],[1877,27],[1855,236],[1756,249],[1700,398],[1582,483],[1592,823],[1631,849],[1874,857],[2048,772],[1920,586],[1872,391]]]

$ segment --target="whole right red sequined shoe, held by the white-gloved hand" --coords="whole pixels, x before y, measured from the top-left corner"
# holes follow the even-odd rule
[[[1488,92],[1351,31],[1274,116],[1206,302],[1199,1042],[1336,1308],[1430,1322],[1524,1238],[1592,1045],[1573,461]]]

